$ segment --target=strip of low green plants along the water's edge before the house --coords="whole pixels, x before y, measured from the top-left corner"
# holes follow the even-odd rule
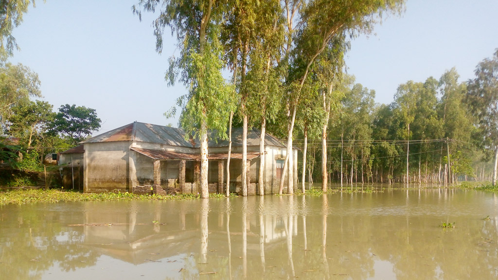
[[[210,194],[209,196],[213,198],[225,197],[223,194]],[[234,196],[236,195],[234,194]],[[128,192],[81,193],[65,191],[62,189],[19,189],[0,191],[0,205],[60,201],[188,200],[198,198],[199,195],[185,193],[172,195],[138,195]]]

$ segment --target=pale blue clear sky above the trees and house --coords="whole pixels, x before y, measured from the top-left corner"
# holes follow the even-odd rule
[[[163,113],[185,94],[168,86],[168,58],[178,55],[165,31],[155,51],[153,14],[140,22],[131,6],[138,0],[41,0],[23,16],[13,35],[20,46],[10,59],[38,73],[43,100],[54,106],[96,109],[100,131],[134,121],[177,126]],[[375,102],[389,104],[399,84],[439,79],[455,67],[460,81],[498,48],[497,0],[407,0],[401,15],[387,15],[372,34],[351,41],[347,72],[375,90]]]

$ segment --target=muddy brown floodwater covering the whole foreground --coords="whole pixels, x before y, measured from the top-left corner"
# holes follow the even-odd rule
[[[458,189],[7,205],[0,278],[497,279],[497,221]]]

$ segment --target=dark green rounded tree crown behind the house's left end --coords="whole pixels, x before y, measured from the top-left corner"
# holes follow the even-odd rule
[[[50,126],[50,132],[67,136],[75,145],[100,128],[95,109],[85,106],[61,105]]]

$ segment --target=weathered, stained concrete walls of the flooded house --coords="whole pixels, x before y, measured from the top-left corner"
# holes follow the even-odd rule
[[[134,187],[141,185],[153,185],[153,162],[154,160],[142,155],[138,152],[130,150],[130,147],[141,147],[159,150],[171,150],[178,152],[198,152],[198,148],[175,147],[163,145],[159,143],[147,142],[131,142],[131,141],[114,141],[100,143],[85,143],[83,153],[84,165],[84,191],[85,192],[101,192],[101,191],[131,191]],[[226,152],[226,147],[211,148],[210,152]],[[233,152],[241,152],[242,147],[235,147]],[[258,152],[259,146],[248,146],[249,152]],[[284,147],[265,146],[265,170],[263,179],[265,182],[265,193],[276,193],[280,183],[280,178],[276,174],[277,160],[283,162],[286,149]],[[297,189],[297,150],[294,150],[294,188]],[[67,162],[69,154],[61,155],[60,162]],[[80,154],[81,155],[81,154]],[[73,162],[76,162],[73,156]],[[217,160],[211,160],[211,164],[217,164]],[[226,162],[225,162],[226,164]],[[231,161],[231,181],[234,183],[234,189],[237,183],[241,181],[240,174],[241,160]],[[226,165],[225,165],[226,166]],[[214,165],[212,167],[215,167]],[[258,182],[259,158],[255,158],[250,162],[249,180],[250,183]],[[188,168],[187,168],[188,169]],[[192,168],[190,168],[192,169]],[[193,170],[187,170],[190,173]],[[210,183],[215,183],[219,180],[215,170],[211,168]],[[163,188],[171,187],[178,183],[179,179],[179,160],[163,160],[160,164],[161,170],[161,186]],[[215,174],[216,173],[216,174]],[[287,172],[288,174],[288,172]],[[226,174],[224,175],[226,176]],[[188,176],[187,176],[188,177]],[[288,176],[287,176],[288,177]],[[193,178],[191,178],[193,179]],[[225,182],[226,178],[223,179]],[[287,186],[285,179],[284,185]],[[187,182],[191,181],[190,179]],[[232,189],[232,188],[231,188]],[[284,188],[284,192],[287,188]]]

